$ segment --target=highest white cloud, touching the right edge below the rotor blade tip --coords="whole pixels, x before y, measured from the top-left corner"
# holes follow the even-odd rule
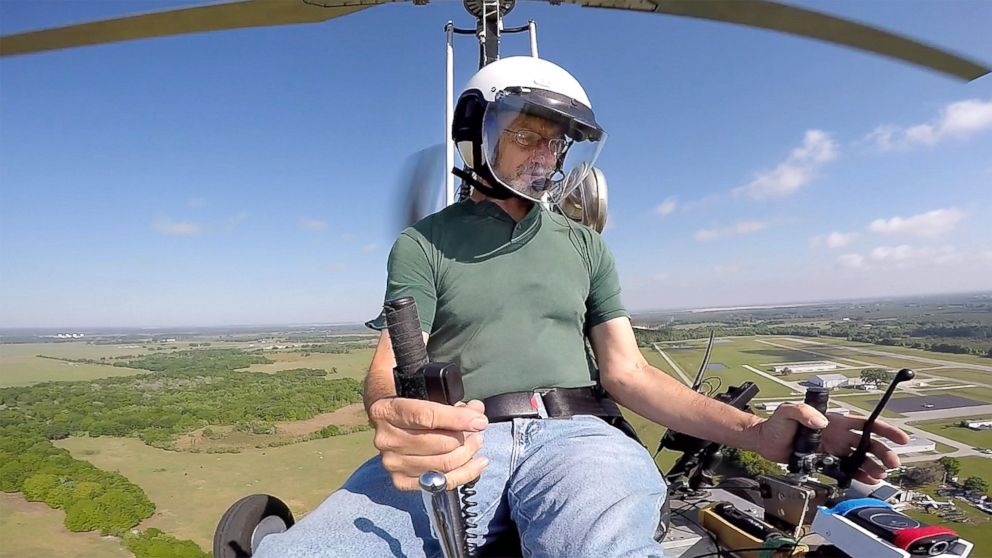
[[[865,138],[883,151],[936,145],[946,139],[965,139],[992,129],[992,99],[968,99],[941,109],[930,122],[906,127],[885,124]]]

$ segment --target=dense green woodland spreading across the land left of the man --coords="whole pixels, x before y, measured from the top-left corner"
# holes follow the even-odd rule
[[[71,531],[120,536],[151,516],[154,504],[127,478],[73,458],[52,440],[130,436],[168,447],[208,424],[308,419],[361,401],[360,382],[331,380],[324,370],[237,370],[268,362],[237,349],[177,351],[120,361],[148,374],[0,389],[0,490],[65,511]],[[348,431],[328,427],[314,437]],[[152,530],[125,544],[139,558],[205,556]]]

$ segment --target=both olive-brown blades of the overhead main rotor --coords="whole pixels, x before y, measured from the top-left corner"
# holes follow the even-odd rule
[[[0,37],[0,56],[202,33],[316,23],[396,0],[241,0],[69,25]],[[400,0],[402,1],[402,0]],[[964,80],[989,73],[984,64],[888,31],[769,0],[550,0],[736,23],[844,45]],[[427,0],[414,0],[426,3]]]

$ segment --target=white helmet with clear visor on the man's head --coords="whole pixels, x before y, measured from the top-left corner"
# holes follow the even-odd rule
[[[457,174],[474,187],[491,197],[551,203],[582,183],[606,141],[579,82],[531,56],[497,60],[472,76],[451,134],[474,176]]]

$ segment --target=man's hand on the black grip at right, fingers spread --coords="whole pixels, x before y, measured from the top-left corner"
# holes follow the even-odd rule
[[[757,452],[765,459],[786,463],[792,454],[792,442],[796,437],[799,425],[814,429],[823,428],[820,439],[821,452],[838,457],[850,455],[861,441],[861,430],[864,417],[827,413],[824,417],[813,407],[805,404],[783,403],[779,405],[768,420],[754,426],[757,430]],[[825,427],[825,428],[824,428]],[[876,420],[872,433],[884,436],[897,444],[909,442],[909,435],[895,426],[881,420]],[[855,478],[868,484],[875,484],[885,478],[886,469],[899,466],[899,457],[879,440],[872,440],[868,447],[869,453],[881,461],[865,458],[861,469]],[[883,466],[884,465],[884,466]]]

